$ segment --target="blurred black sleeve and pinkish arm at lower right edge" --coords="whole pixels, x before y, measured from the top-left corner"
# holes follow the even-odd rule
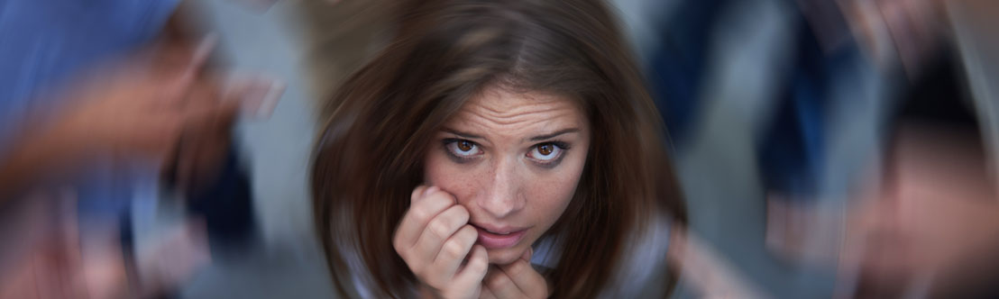
[[[994,153],[948,66],[924,69],[932,76],[907,92],[880,170],[870,174],[880,183],[850,210],[841,262],[857,269],[855,297],[999,294],[991,253],[999,248],[999,204],[987,162]]]

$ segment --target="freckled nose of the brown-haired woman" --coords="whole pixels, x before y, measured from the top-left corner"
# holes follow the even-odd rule
[[[477,204],[491,216],[503,218],[523,209],[526,204],[520,192],[520,176],[513,158],[500,158],[491,165],[484,192],[478,196]]]

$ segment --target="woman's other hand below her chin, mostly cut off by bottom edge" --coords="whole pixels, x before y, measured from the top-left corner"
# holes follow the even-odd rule
[[[528,249],[510,264],[491,267],[480,298],[547,298],[547,281],[530,266],[532,253]]]

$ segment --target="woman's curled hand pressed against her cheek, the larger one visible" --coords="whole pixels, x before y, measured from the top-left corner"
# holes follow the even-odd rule
[[[478,298],[489,257],[485,247],[475,245],[479,232],[469,225],[469,211],[437,186],[417,187],[411,200],[393,239],[396,252],[420,279],[425,294]]]

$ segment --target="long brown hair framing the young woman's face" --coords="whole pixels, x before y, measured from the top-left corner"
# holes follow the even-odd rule
[[[488,86],[567,96],[592,127],[576,193],[547,233],[563,244],[547,277],[552,296],[597,296],[653,215],[686,222],[662,121],[602,2],[416,2],[401,11],[394,42],[324,110],[313,204],[342,295],[349,263],[370,271],[376,295],[417,285],[394,231],[424,181],[428,141]]]

